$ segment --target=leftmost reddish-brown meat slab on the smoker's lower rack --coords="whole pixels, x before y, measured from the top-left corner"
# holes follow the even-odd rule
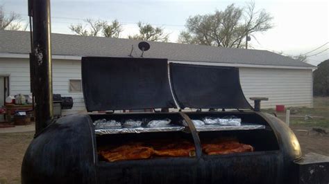
[[[140,143],[122,145],[115,149],[99,151],[101,156],[110,162],[117,160],[135,160],[150,158],[153,154],[152,147],[142,146]]]

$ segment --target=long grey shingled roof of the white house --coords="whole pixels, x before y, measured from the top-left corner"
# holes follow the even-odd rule
[[[79,35],[51,34],[53,55],[129,57],[133,45],[133,56],[140,57],[141,51],[133,39],[87,37]],[[26,31],[0,30],[0,53],[28,54],[30,33]],[[314,67],[296,59],[278,55],[267,50],[243,48],[219,48],[189,44],[149,42],[150,50],[144,57],[167,58],[170,61],[214,62],[223,64],[253,64],[271,66]]]

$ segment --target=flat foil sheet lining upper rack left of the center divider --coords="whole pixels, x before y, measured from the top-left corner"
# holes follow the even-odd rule
[[[109,129],[95,129],[97,135],[104,134],[130,134],[130,133],[144,133],[144,132],[159,132],[159,131],[183,131],[185,127],[178,125],[167,125],[164,127],[133,127],[133,128],[109,128]]]

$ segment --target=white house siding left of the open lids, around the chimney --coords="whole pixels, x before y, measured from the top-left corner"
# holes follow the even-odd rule
[[[30,69],[28,59],[0,58],[0,75],[8,75],[10,94],[30,93]],[[62,113],[70,114],[85,110],[83,93],[69,93],[69,80],[81,79],[81,62],[78,60],[53,59],[53,93],[74,98],[74,107]]]

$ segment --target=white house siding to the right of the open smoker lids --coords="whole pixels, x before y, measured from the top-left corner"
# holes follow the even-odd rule
[[[262,108],[312,107],[312,70],[239,68],[242,90],[250,97],[267,97]]]

